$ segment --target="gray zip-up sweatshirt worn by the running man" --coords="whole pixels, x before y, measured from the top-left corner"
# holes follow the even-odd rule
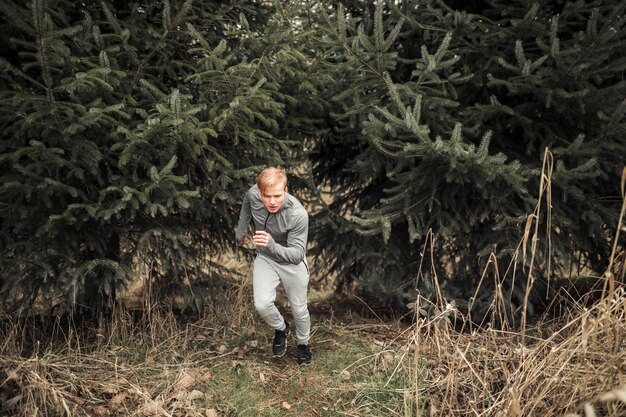
[[[248,232],[250,222],[255,231],[264,230],[271,235],[266,247],[257,247],[259,255],[280,264],[306,264],[309,215],[294,196],[287,193],[281,208],[276,213],[270,213],[263,205],[259,187],[253,185],[241,204],[235,230],[237,242],[241,242]]]

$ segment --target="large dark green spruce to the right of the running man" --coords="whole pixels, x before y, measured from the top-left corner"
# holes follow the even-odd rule
[[[338,192],[328,211],[340,215],[318,223],[329,239],[320,256],[340,254],[340,277],[402,299],[432,231],[435,271],[449,278],[449,299],[467,302],[491,253],[501,271],[514,259],[547,149],[551,211],[540,216],[536,265],[544,278],[551,268],[569,276],[572,265],[604,272],[626,156],[625,8],[424,0],[326,9],[335,125],[312,159],[317,180]],[[513,312],[523,283],[503,284]]]

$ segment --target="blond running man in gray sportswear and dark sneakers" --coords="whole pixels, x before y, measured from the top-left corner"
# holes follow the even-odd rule
[[[257,183],[247,192],[241,205],[236,239],[242,245],[249,241],[248,226],[255,231],[256,244],[252,287],[254,306],[265,322],[274,329],[274,356],[287,351],[290,326],[274,304],[276,288],[282,282],[291,303],[296,326],[298,364],[311,363],[309,336],[311,318],[307,307],[309,270],[306,244],[309,216],[300,202],[287,190],[287,174],[281,168],[266,168]]]

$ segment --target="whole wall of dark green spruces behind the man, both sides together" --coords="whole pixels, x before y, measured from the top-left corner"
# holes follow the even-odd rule
[[[266,165],[292,173],[339,290],[403,306],[430,291],[416,274],[432,250],[466,304],[492,254],[528,271],[541,184],[537,277],[600,275],[626,155],[625,7],[3,2],[0,300],[103,311],[133,260],[163,291],[209,285]],[[525,283],[510,281],[513,315]]]

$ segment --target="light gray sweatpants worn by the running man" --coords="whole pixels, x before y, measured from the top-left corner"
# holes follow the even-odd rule
[[[311,317],[307,307],[309,271],[304,262],[298,265],[279,264],[265,256],[258,255],[254,260],[252,288],[254,307],[263,320],[274,330],[285,329],[285,319],[276,307],[276,288],[282,282],[296,325],[298,344],[309,343]]]

